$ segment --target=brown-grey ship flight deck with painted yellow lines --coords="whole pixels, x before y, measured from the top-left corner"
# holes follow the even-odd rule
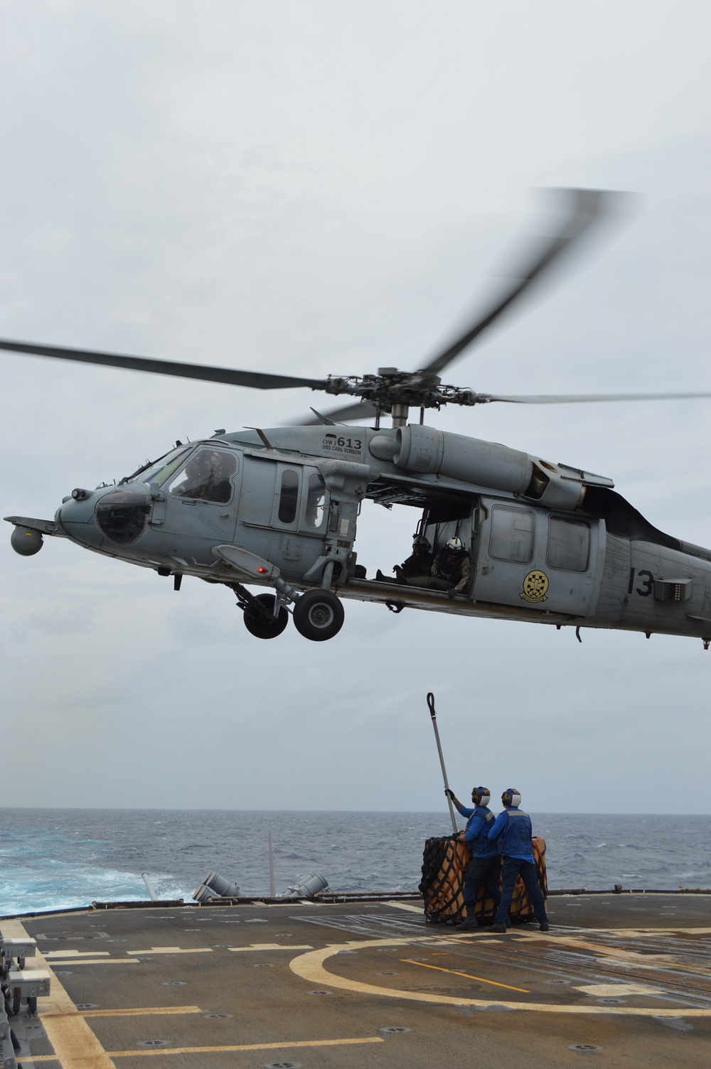
[[[550,900],[552,929],[458,934],[421,903],[87,911],[0,920],[52,974],[12,1019],[42,1069],[708,1067],[711,901]]]

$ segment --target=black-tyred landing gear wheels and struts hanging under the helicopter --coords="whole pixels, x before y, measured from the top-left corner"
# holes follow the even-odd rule
[[[276,638],[289,622],[289,609],[279,595],[252,594],[241,583],[230,584],[244,613],[245,628],[257,638]],[[325,642],[343,626],[343,605],[330,590],[307,590],[296,599],[294,626],[312,642]]]

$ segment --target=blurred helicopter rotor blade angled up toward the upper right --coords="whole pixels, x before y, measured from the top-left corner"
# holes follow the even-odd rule
[[[579,237],[603,215],[608,213],[613,201],[625,196],[604,189],[561,189],[572,199],[572,211],[559,233],[544,241],[544,244],[522,273],[516,273],[516,281],[504,291],[501,296],[483,315],[477,317],[472,326],[448,348],[436,356],[434,360],[421,368],[421,371],[439,374],[448,363],[451,363],[460,353],[470,345],[488,327],[490,327],[508,308],[510,308],[528,286],[539,278],[555,261],[577,242]]]

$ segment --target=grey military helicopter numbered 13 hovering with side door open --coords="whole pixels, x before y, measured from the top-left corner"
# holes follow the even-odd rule
[[[514,282],[418,371],[324,379],[236,371],[86,350],[0,341],[0,348],[253,389],[309,387],[356,401],[297,425],[217,431],[175,447],[118,484],[77,487],[53,520],[5,517],[31,556],[43,538],[173,576],[229,587],[259,638],[292,615],[323,641],[343,623],[342,599],[531,623],[690,635],[711,644],[711,549],[656,530],[612,479],[424,424],[443,405],[710,397],[710,393],[496,396],[444,385],[442,372],[481,338],[599,219],[616,195],[566,190],[563,221]],[[411,408],[419,422],[408,423]],[[392,425],[382,427],[384,415]],[[371,427],[343,420],[372,419]],[[417,510],[434,554],[452,538],[470,558],[468,585],[440,590],[368,579],[354,543],[364,499]],[[252,593],[248,587],[273,593]],[[459,585],[458,585],[459,586]]]

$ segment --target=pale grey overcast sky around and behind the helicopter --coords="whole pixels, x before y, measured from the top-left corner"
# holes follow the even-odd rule
[[[707,2],[0,4],[0,337],[322,376],[455,335],[534,190],[639,193],[447,381],[711,390]],[[326,404],[0,354],[3,515],[50,518],[177,437]],[[711,401],[444,410],[614,478],[711,543]],[[369,574],[412,510],[366,506]],[[402,514],[404,513],[404,514]],[[345,603],[251,637],[227,589],[0,545],[0,805],[711,812],[698,639]]]

